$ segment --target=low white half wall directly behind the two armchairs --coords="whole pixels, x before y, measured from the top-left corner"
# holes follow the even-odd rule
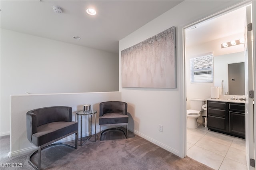
[[[73,121],[77,121],[75,112],[82,110],[84,104],[90,104],[91,109],[99,111],[100,102],[120,100],[121,92],[62,93],[10,96],[11,132],[9,156],[16,156],[19,154],[31,152],[32,150],[36,150],[36,147],[31,144],[27,139],[26,113],[28,111],[41,107],[69,106],[72,107]],[[96,113],[96,133],[99,132],[98,117],[99,112]],[[83,116],[82,136],[89,135],[90,127],[88,121],[88,117]],[[92,134],[94,134],[94,125],[94,118],[92,118]],[[78,127],[80,127],[80,121]],[[78,128],[78,134],[80,137],[80,128]],[[68,140],[74,140],[74,135],[68,136],[61,141],[65,142]],[[96,138],[96,140],[99,140],[98,137]]]

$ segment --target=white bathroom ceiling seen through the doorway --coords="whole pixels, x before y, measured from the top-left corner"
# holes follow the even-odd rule
[[[194,25],[198,26],[196,29],[191,29],[193,26],[187,28],[185,31],[186,46],[205,43],[235,34],[241,34],[241,38],[243,38],[245,18],[246,7],[243,7],[200,22]]]

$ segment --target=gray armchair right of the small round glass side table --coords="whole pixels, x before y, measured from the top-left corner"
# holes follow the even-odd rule
[[[106,101],[100,103],[100,140],[101,135],[107,130],[122,130],[121,128],[108,128],[101,132],[102,126],[122,126],[126,125],[126,133],[124,132],[125,137],[127,138],[128,134],[128,115],[127,115],[127,103],[122,101]]]

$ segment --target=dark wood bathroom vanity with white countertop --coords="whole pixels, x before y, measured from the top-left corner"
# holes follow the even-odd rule
[[[245,138],[245,101],[206,100],[207,127],[209,130]]]

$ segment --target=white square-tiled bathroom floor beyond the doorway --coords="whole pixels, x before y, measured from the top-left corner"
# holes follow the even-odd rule
[[[187,155],[215,170],[247,170],[245,140],[202,125],[187,128]]]

